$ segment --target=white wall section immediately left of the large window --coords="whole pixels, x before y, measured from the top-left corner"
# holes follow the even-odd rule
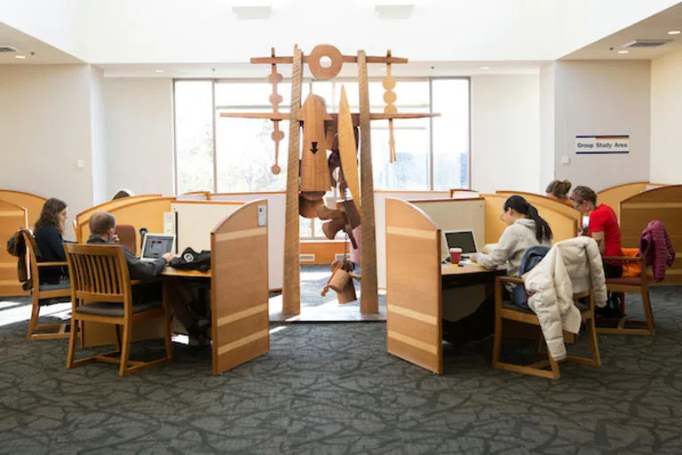
[[[174,194],[173,82],[104,80],[107,117],[107,194]]]

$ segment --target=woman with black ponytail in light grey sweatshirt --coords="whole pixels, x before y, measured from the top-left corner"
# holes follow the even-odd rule
[[[521,259],[528,248],[535,245],[551,246],[551,228],[547,221],[538,215],[537,209],[521,196],[510,196],[504,202],[501,218],[507,224],[507,228],[504,229],[498,243],[489,254],[472,255],[472,261],[486,268],[504,266],[508,263],[507,275],[518,277]],[[508,284],[507,288],[512,291],[514,285]]]

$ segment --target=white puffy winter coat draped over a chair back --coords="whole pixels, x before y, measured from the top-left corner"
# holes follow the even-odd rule
[[[589,267],[588,267],[589,264]],[[563,331],[580,331],[580,310],[573,295],[592,288],[594,303],[607,303],[607,285],[597,242],[582,236],[556,243],[531,271],[523,275],[528,306],[540,320],[553,359],[566,358]]]

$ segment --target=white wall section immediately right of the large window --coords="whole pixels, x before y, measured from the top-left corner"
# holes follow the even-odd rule
[[[540,191],[539,76],[472,76],[472,188]]]

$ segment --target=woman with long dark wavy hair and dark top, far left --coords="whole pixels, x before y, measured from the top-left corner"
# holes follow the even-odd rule
[[[67,203],[59,199],[48,199],[36,221],[34,236],[38,245],[40,262],[66,261],[64,252],[64,230],[67,226]],[[41,284],[68,283],[67,267],[43,267],[40,270]]]

